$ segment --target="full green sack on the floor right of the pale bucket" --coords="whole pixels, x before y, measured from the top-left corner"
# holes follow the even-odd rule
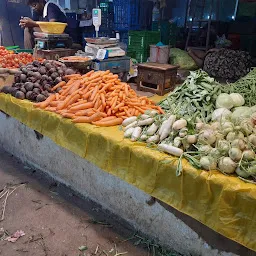
[[[170,63],[172,65],[179,65],[180,69],[196,70],[198,66],[195,61],[188,55],[186,51],[178,48],[171,48]]]

